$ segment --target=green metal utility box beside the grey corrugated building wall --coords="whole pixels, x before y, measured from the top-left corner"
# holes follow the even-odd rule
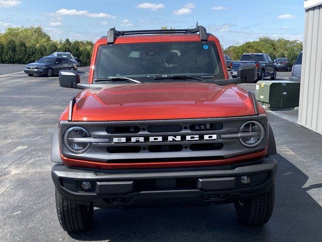
[[[298,107],[300,83],[290,81],[258,81],[256,99],[268,107]]]

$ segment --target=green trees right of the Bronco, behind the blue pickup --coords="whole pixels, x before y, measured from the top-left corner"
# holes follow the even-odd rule
[[[256,41],[249,41],[244,44],[231,45],[224,49],[234,61],[239,60],[244,53],[267,53],[271,58],[287,57],[293,65],[298,54],[303,49],[303,43],[299,40],[272,39],[260,37]]]

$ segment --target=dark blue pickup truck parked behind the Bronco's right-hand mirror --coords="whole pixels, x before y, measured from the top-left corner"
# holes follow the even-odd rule
[[[237,69],[245,63],[254,63],[257,68],[258,80],[264,80],[270,77],[271,80],[276,79],[277,68],[272,58],[265,53],[246,53],[241,55],[238,62],[232,62],[230,74],[233,78],[237,77]]]

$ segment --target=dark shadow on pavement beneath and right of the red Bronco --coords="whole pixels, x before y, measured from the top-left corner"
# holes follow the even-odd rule
[[[96,209],[93,228],[69,235],[110,241],[322,241],[322,209],[302,188],[308,177],[281,155],[275,208],[264,226],[238,223],[232,204],[210,207]]]

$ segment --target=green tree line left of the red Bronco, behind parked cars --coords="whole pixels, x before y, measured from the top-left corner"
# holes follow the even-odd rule
[[[42,27],[9,27],[0,33],[0,63],[27,64],[55,51],[70,52],[90,65],[92,41],[52,40]]]

